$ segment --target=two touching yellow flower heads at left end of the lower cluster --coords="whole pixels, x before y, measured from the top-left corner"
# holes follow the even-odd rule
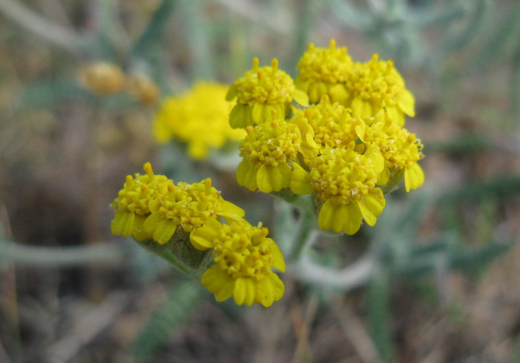
[[[114,235],[132,234],[137,240],[153,239],[164,244],[179,227],[190,232],[209,219],[222,216],[232,221],[245,214],[220,196],[210,178],[174,185],[164,175],[154,175],[150,163],[144,169],[146,175],[126,177],[123,189],[112,203],[112,208],[118,208],[111,224]]]

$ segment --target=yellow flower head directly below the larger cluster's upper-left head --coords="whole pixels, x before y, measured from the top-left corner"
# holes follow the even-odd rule
[[[264,193],[289,188],[289,163],[297,158],[302,143],[298,126],[280,119],[248,126],[246,131],[240,143],[243,160],[237,168],[238,184]]]

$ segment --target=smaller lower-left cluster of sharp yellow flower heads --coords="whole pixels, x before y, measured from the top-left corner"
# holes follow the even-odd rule
[[[238,305],[267,307],[281,299],[283,282],[271,267],[284,272],[285,263],[275,241],[267,238],[267,228],[245,221],[244,211],[224,200],[210,178],[175,185],[155,175],[150,163],[144,170],[144,175],[126,177],[112,203],[117,209],[111,223],[114,235],[165,244],[182,229],[194,248],[213,250],[215,265],[204,272],[201,283],[217,301],[233,296]]]

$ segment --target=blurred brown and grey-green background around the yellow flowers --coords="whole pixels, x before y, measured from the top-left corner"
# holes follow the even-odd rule
[[[268,309],[218,304],[111,235],[110,203],[151,161],[211,176],[283,241],[287,206],[156,144],[152,122],[164,97],[230,84],[255,56],[295,76],[330,38],[395,61],[426,155],[425,185],[388,196],[375,227],[316,244],[348,283],[289,271]],[[0,361],[520,361],[518,39],[513,0],[0,0]],[[99,62],[116,71],[96,90]]]

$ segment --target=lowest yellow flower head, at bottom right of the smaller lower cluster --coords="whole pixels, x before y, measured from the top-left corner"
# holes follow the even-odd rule
[[[196,248],[214,249],[216,265],[204,272],[201,283],[217,301],[233,296],[237,305],[258,303],[269,307],[281,299],[283,282],[271,268],[285,272],[285,262],[267,234],[261,223],[253,227],[244,219],[231,225],[210,219],[191,232],[190,240]]]

